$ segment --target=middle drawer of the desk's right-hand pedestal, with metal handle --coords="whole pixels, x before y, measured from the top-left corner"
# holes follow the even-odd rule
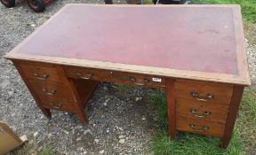
[[[228,106],[177,99],[176,113],[197,120],[215,120],[225,123]]]

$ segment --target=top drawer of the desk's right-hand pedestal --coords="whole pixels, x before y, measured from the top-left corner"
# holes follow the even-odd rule
[[[210,82],[176,81],[175,97],[202,103],[229,105],[233,87]]]

